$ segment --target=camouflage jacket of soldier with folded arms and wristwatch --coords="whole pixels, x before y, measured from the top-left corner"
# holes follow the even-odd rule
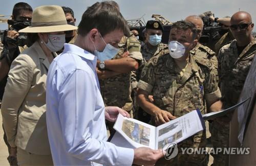
[[[118,46],[120,50],[114,59],[122,58],[122,54],[125,51],[129,51],[131,58],[139,61],[139,63],[142,61],[140,42],[135,36],[123,37]],[[118,106],[127,112],[132,110],[131,72],[101,79],[99,82],[105,106]]]

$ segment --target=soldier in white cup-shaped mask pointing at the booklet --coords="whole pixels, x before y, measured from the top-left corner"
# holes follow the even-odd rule
[[[183,56],[174,57],[171,51],[153,57],[142,70],[138,82],[138,101],[140,106],[152,115],[156,125],[197,108],[204,114],[204,100],[211,110],[220,110],[221,94],[216,70],[212,69],[210,61],[194,59],[189,52],[197,44],[196,35],[197,29],[193,23],[174,23],[170,30],[169,49],[173,49],[172,41],[178,41],[185,47]],[[153,103],[148,101],[148,94],[153,94]],[[178,156],[171,160],[160,159],[157,165],[207,165],[206,154],[181,154],[180,150],[181,147],[205,146],[206,132],[203,130],[178,144]]]

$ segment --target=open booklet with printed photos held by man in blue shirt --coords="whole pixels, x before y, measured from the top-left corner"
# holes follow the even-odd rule
[[[118,115],[111,142],[126,148],[162,149],[168,143],[179,143],[205,128],[200,111],[183,115],[158,127]]]

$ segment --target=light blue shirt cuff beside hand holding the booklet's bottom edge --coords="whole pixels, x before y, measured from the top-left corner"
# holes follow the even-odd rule
[[[132,165],[134,159],[134,150],[130,148],[116,147],[118,157],[115,165]]]

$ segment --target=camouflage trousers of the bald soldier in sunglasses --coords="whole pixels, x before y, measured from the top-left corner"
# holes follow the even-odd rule
[[[211,143],[214,148],[229,147],[229,122],[212,122]],[[227,154],[214,154],[212,156],[214,157],[213,166],[228,165]]]

